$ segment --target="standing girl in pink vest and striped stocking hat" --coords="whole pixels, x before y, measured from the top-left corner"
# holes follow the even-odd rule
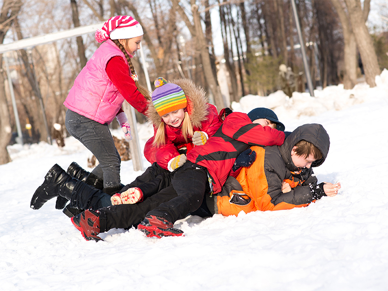
[[[138,112],[145,113],[150,98],[139,86],[130,60],[140,49],[143,29],[131,16],[114,16],[95,36],[97,42],[103,43],[77,76],[64,102],[68,108],[65,126],[99,162],[88,174],[86,183],[100,185],[105,193],[114,194],[123,186],[121,159],[108,125],[116,117],[125,138],[131,140],[128,119],[121,106],[127,100]]]

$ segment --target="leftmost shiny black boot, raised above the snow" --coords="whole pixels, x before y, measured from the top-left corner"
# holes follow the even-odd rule
[[[46,174],[43,184],[32,195],[30,207],[35,210],[40,209],[47,201],[58,196],[70,200],[77,181],[55,164]]]

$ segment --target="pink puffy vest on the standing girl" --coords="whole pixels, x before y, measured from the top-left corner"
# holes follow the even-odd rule
[[[101,124],[111,123],[124,102],[106,73],[106,65],[114,56],[124,53],[108,39],[95,51],[74,81],[65,99],[65,106]]]

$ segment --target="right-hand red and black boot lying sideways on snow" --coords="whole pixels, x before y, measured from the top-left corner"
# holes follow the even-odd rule
[[[162,238],[164,236],[182,236],[183,231],[174,228],[174,225],[161,216],[147,215],[138,229],[143,231],[147,237]]]

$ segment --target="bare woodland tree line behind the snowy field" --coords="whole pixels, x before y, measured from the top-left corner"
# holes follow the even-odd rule
[[[375,86],[374,77],[388,67],[388,32],[368,32],[370,0],[363,5],[360,0],[295,3],[313,87],[343,82],[350,89],[362,73]],[[2,0],[0,5],[0,43],[131,15],[145,32],[142,44],[151,83],[159,76],[191,78],[219,110],[247,94],[266,96],[282,89],[281,64],[300,76],[297,89],[305,91],[291,0]],[[387,16],[387,9],[383,5],[381,13]],[[49,129],[54,123],[64,125],[63,101],[97,45],[90,33],[6,53],[26,142],[47,141],[40,100]],[[146,86],[139,56],[133,62]],[[0,69],[1,164],[10,161],[6,146],[16,125],[3,55]]]

